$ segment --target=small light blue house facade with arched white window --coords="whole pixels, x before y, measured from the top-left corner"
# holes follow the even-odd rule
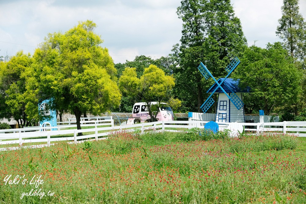
[[[50,103],[49,99],[43,100],[38,104],[38,109],[39,109],[39,114],[43,116],[51,116],[50,119],[44,119],[42,121],[39,121],[39,127],[56,127],[57,122],[56,122],[56,110],[51,110],[48,108],[48,103]],[[55,130],[52,128],[52,130]]]

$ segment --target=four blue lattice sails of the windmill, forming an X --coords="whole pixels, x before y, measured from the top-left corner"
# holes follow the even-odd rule
[[[200,65],[198,66],[198,69],[201,72],[201,74],[204,76],[204,78],[208,79],[209,76],[210,76],[215,81],[215,83],[217,84],[217,87],[215,88],[215,90],[211,93],[211,95],[206,99],[206,101],[200,107],[202,109],[203,113],[206,113],[207,110],[214,104],[215,100],[212,98],[212,96],[215,93],[215,91],[217,91],[218,88],[220,88],[223,91],[223,93],[225,93],[225,95],[230,99],[230,101],[234,104],[234,106],[238,110],[243,107],[243,105],[244,105],[243,102],[241,101],[241,99],[233,91],[231,91],[232,93],[230,95],[228,95],[226,93],[226,91],[221,87],[222,83],[227,79],[228,76],[230,76],[230,74],[239,65],[239,63],[240,63],[240,60],[238,59],[238,57],[235,57],[230,62],[230,64],[225,69],[228,74],[221,81],[221,83],[218,83],[218,81],[215,79],[215,77],[212,76],[211,72],[209,72],[209,70],[205,67],[205,65],[203,65],[202,62],[200,63]]]

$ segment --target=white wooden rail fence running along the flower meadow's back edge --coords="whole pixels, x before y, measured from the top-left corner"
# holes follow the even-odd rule
[[[87,121],[85,121],[86,123]],[[89,121],[88,121],[89,122]],[[91,121],[92,122],[92,121]],[[102,121],[99,121],[102,122]],[[141,133],[144,131],[152,129],[157,131],[168,131],[168,132],[184,132],[190,128],[204,128],[204,124],[208,121],[158,121],[158,122],[151,122],[151,123],[141,123],[141,124],[132,124],[132,125],[121,125],[121,126],[114,126],[113,120],[104,120],[103,124],[99,124],[96,122],[95,124],[91,124],[91,126],[95,126],[95,128],[89,129],[67,129],[63,130],[63,128],[71,127],[73,125],[62,126],[62,127],[47,127],[46,129],[55,129],[58,130],[54,131],[41,131],[42,128],[25,128],[25,129],[9,129],[9,130],[2,130],[2,134],[0,134],[0,145],[10,145],[10,144],[19,144],[19,148],[22,147],[24,143],[46,143],[42,145],[32,145],[26,146],[26,148],[37,148],[37,147],[45,147],[50,146],[51,142],[57,141],[67,141],[67,142],[74,142],[76,143],[80,139],[107,139],[107,135],[114,134],[116,131],[129,131],[133,132],[135,129],[139,129]],[[219,130],[222,131],[226,129],[230,123],[218,123]],[[306,121],[284,121],[284,122],[276,122],[276,123],[240,123],[242,126],[245,126],[246,131],[253,131],[256,134],[262,132],[290,132],[299,137],[306,136]],[[87,124],[86,124],[87,125]],[[89,125],[89,124],[88,124]],[[104,125],[111,125],[110,127],[98,127]],[[74,125],[74,127],[76,127]],[[16,132],[17,130],[17,132]],[[36,130],[36,131],[35,131]],[[14,132],[13,132],[14,131]],[[35,132],[29,132],[35,131]],[[6,133],[3,133],[6,132]],[[13,132],[13,133],[7,133]],[[85,133],[85,132],[92,132],[89,135],[82,135],[77,136],[78,133]],[[99,133],[100,132],[100,133]],[[305,133],[301,133],[305,132]],[[71,136],[63,136],[70,134]],[[58,137],[52,137],[54,135],[58,135]],[[32,139],[33,137],[45,137],[39,139]],[[12,139],[12,140],[6,140]],[[4,141],[3,141],[4,140]],[[81,141],[81,142],[84,142]],[[18,147],[4,147],[0,148],[1,150],[13,150],[17,149]]]

